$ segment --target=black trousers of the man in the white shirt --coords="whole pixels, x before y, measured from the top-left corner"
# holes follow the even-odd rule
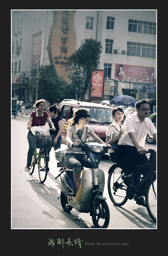
[[[119,145],[117,154],[121,155],[126,160],[126,172],[125,175],[133,174],[134,187],[140,183],[141,174],[145,176],[149,169],[148,167],[136,167],[138,163],[147,163],[149,160],[146,155],[141,155],[138,153],[137,149],[134,146]],[[141,191],[143,188],[141,189]]]

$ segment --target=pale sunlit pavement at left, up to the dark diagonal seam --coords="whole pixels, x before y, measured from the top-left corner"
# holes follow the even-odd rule
[[[38,169],[33,176],[24,172],[26,151],[19,153],[15,145],[21,145],[27,150],[27,123],[28,117],[35,109],[26,109],[14,118],[12,115],[12,229],[79,229],[74,221],[56,206],[57,193],[60,195],[58,183],[55,180],[56,160],[53,155],[50,159],[50,172],[45,184],[39,182]],[[18,121],[19,128],[18,128]],[[16,121],[15,121],[16,120]],[[19,131],[15,133],[15,131]],[[21,132],[22,131],[22,132]],[[25,147],[24,147],[25,146]],[[51,161],[52,160],[52,161]],[[19,163],[19,165],[18,165]],[[54,167],[53,167],[54,163]],[[56,175],[57,176],[57,175]],[[58,191],[59,192],[58,192]],[[44,192],[45,191],[45,192]],[[44,195],[45,193],[45,195]],[[59,201],[60,202],[60,201]],[[62,208],[61,208],[62,210]]]

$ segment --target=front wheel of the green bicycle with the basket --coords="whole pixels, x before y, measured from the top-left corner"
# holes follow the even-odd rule
[[[42,183],[44,183],[47,178],[47,172],[48,172],[47,155],[45,151],[41,151],[39,155],[39,161],[38,161],[38,175]]]

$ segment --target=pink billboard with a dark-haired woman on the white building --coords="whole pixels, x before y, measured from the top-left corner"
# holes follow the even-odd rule
[[[115,64],[115,77],[117,80],[125,82],[153,82],[154,68],[144,66],[134,66],[125,64]]]

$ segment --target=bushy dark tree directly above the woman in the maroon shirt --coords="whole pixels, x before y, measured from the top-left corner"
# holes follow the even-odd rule
[[[66,91],[66,81],[57,75],[53,63],[41,66],[38,77],[38,98],[46,99],[53,105],[62,101]]]

